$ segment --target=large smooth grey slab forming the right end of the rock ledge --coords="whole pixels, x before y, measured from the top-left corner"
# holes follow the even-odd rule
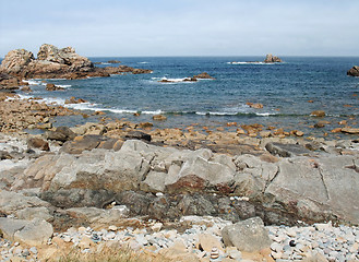
[[[307,219],[359,224],[357,166],[349,155],[283,159],[264,194]]]

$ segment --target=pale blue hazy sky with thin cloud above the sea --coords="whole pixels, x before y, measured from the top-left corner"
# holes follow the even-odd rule
[[[0,0],[0,57],[358,57],[358,0]]]

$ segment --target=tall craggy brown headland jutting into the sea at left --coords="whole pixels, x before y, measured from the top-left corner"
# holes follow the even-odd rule
[[[72,47],[57,48],[44,44],[37,59],[31,51],[16,49],[9,51],[0,66],[0,73],[21,79],[83,79],[87,76],[109,76],[120,73],[149,73],[151,70],[127,66],[97,68],[86,57],[77,55]],[[1,83],[0,83],[1,84]]]

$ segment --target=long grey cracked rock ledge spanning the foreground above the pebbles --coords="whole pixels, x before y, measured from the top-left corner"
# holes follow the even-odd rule
[[[258,215],[266,223],[358,224],[358,166],[356,155],[299,155],[268,163],[253,155],[230,157],[129,140],[117,152],[43,156],[17,176],[13,189],[41,188],[41,198],[61,207],[104,207],[116,201],[133,215],[158,219],[187,214],[235,222]]]

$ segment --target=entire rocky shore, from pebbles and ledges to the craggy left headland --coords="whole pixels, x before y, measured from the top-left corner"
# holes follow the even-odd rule
[[[345,140],[235,122],[235,131],[160,130],[100,111],[96,122],[53,128],[56,117],[83,112],[9,92],[24,78],[104,69],[71,48],[14,53],[27,58],[21,69],[5,59],[0,75],[1,261],[106,248],[147,261],[359,260],[358,130],[343,123]],[[106,72],[140,72],[121,67]]]

